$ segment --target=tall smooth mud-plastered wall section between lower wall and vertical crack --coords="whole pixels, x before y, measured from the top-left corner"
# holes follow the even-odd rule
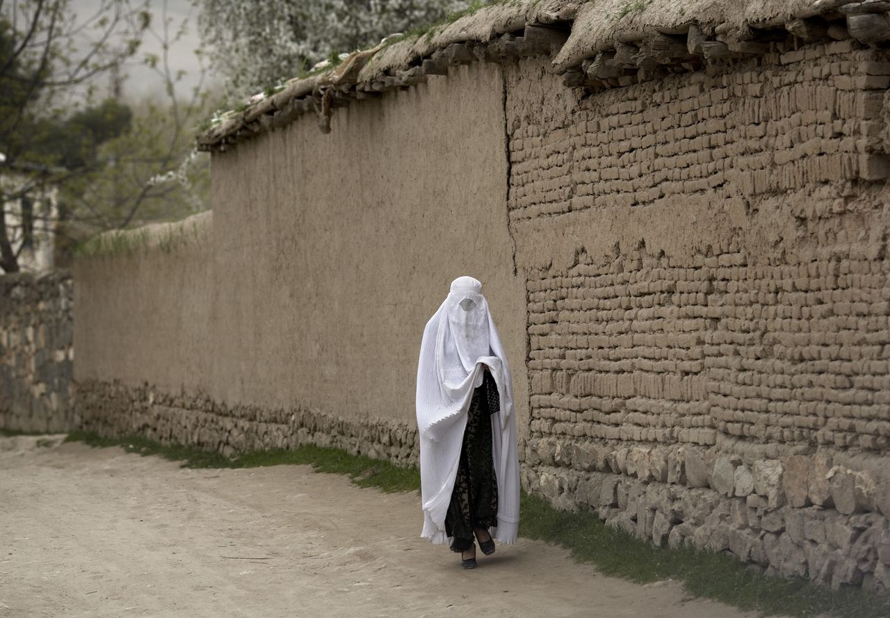
[[[527,425],[503,98],[476,63],[214,157],[215,400],[414,423],[424,325],[472,275]]]

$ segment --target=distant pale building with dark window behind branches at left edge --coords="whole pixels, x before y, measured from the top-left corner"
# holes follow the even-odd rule
[[[14,196],[4,201],[0,214],[22,272],[43,273],[53,269],[59,208],[56,187],[46,183],[52,172],[45,165],[20,161],[7,164],[6,157],[0,153],[0,193],[4,197]]]

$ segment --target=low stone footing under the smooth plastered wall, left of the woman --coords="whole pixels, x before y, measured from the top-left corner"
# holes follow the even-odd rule
[[[77,426],[103,437],[142,436],[232,455],[299,445],[417,465],[417,429],[391,421],[356,421],[304,409],[221,405],[202,395],[174,395],[119,382],[77,384]]]

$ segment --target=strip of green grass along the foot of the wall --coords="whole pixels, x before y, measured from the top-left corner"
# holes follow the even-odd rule
[[[384,492],[410,492],[420,487],[417,468],[400,468],[337,448],[303,445],[295,450],[272,449],[225,457],[193,446],[161,445],[143,437],[104,438],[75,432],[66,441],[93,446],[122,446],[128,453],[160,455],[182,461],[188,468],[255,468],[282,464],[311,465],[316,471],[345,474],[362,487]],[[797,578],[784,579],[756,573],[732,556],[689,548],[657,548],[632,535],[605,526],[590,513],[555,510],[537,496],[522,493],[520,534],[553,542],[570,551],[579,562],[596,566],[603,574],[633,582],[679,580],[692,595],[712,598],[762,615],[837,616],[884,618],[890,615],[890,598],[857,589],[828,590]],[[418,513],[419,516],[419,513]]]

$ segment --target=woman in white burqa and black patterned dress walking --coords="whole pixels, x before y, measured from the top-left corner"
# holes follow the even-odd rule
[[[424,329],[417,365],[421,536],[448,543],[464,568],[476,546],[513,544],[519,456],[513,382],[498,329],[473,277],[457,277]]]

